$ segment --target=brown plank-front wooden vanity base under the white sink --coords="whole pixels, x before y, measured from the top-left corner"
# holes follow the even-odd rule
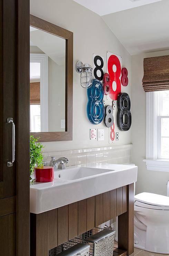
[[[49,250],[100,224],[118,217],[118,248],[133,253],[134,185],[43,212],[31,213],[31,256],[48,256]],[[117,255],[117,254],[116,254]]]

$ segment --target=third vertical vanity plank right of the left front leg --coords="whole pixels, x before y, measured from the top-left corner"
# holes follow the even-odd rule
[[[68,218],[68,239],[72,239],[78,236],[78,202],[69,204]]]

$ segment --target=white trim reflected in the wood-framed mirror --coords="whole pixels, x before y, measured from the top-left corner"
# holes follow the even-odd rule
[[[30,62],[40,63],[40,129],[48,131],[48,55],[30,53]]]

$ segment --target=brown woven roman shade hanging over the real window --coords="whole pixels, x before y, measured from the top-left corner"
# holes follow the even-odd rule
[[[169,90],[169,55],[144,58],[143,67],[145,92]]]

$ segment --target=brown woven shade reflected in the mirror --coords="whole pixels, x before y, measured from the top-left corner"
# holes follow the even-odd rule
[[[40,104],[40,82],[30,83],[30,105]]]

